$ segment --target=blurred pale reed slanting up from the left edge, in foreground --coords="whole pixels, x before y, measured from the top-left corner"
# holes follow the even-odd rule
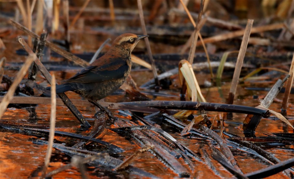
[[[32,62],[34,62],[35,60],[36,60],[36,56],[29,55],[28,58],[26,59],[24,65],[22,65],[20,71],[17,73],[17,76],[15,77],[9,90],[7,91],[6,95],[4,96],[2,102],[0,103],[0,118],[3,116],[10,100],[13,98],[13,94],[14,94],[18,84],[24,78],[25,74],[28,71],[28,68],[31,66]]]

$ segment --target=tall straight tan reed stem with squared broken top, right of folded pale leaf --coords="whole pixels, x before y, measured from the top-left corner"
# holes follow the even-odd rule
[[[234,71],[232,84],[231,84],[231,89],[230,89],[230,93],[229,93],[229,97],[228,97],[228,101],[227,101],[228,104],[233,104],[233,102],[234,102],[234,97],[235,97],[235,94],[236,94],[236,89],[237,89],[237,85],[238,85],[238,82],[239,82],[241,68],[242,68],[242,65],[243,65],[243,60],[244,60],[244,57],[245,57],[245,53],[246,53],[246,49],[247,49],[247,45],[248,45],[248,41],[249,41],[249,37],[250,37],[250,32],[251,32],[251,29],[252,29],[252,25],[253,25],[253,20],[248,19],[247,25],[246,25],[246,28],[245,28],[245,32],[244,32],[244,35],[243,35],[241,47],[240,47],[240,50],[239,50],[237,62],[236,62],[236,68],[235,68],[235,71]]]

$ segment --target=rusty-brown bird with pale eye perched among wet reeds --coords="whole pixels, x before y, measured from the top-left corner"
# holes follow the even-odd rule
[[[56,93],[74,91],[94,103],[111,95],[130,74],[131,52],[137,43],[146,37],[148,35],[119,35],[106,54],[65,80],[64,84],[56,85]],[[51,87],[46,89],[50,90]]]

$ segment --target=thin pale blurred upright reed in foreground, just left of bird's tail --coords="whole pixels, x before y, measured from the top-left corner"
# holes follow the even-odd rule
[[[52,147],[54,141],[54,133],[55,133],[55,119],[56,119],[56,83],[55,83],[55,75],[52,75],[51,79],[51,114],[50,114],[50,132],[48,139],[48,147],[47,153],[44,162],[44,168],[42,173],[42,178],[46,176],[46,170],[50,162]]]

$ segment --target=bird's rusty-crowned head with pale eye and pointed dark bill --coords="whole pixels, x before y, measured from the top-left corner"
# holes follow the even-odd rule
[[[122,54],[130,54],[137,43],[148,35],[122,34],[119,35],[112,43],[111,49],[117,50]]]

